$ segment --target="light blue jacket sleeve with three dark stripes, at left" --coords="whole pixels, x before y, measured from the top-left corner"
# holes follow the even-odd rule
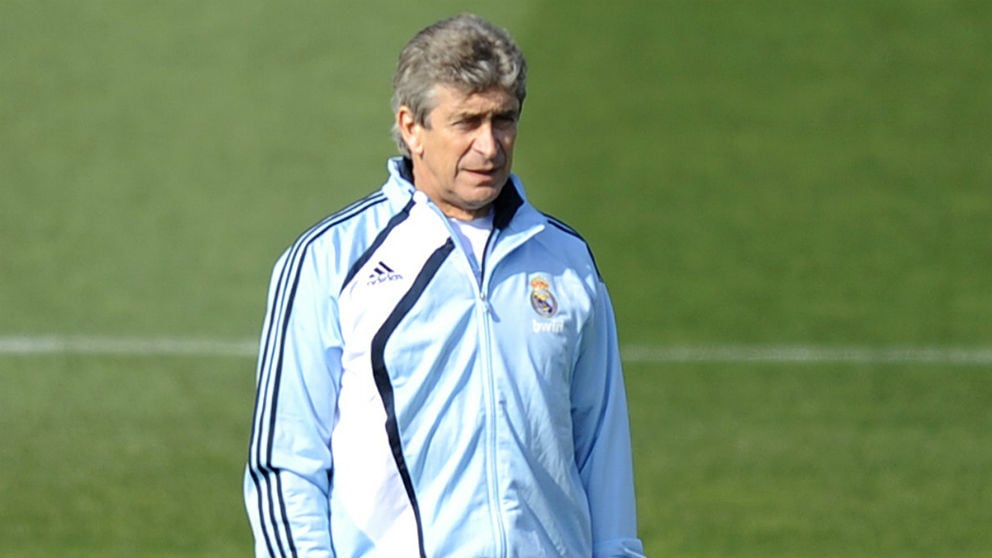
[[[329,440],[341,343],[329,291],[307,246],[295,245],[276,263],[244,479],[256,556],[334,555]]]

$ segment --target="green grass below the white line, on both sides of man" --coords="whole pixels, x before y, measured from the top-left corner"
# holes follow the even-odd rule
[[[243,556],[245,359],[19,357],[0,556]],[[631,365],[653,556],[988,556],[992,376]]]

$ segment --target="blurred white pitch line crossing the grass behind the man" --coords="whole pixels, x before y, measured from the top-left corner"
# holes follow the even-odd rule
[[[177,337],[0,336],[0,356],[131,355],[251,358],[258,343],[251,340]],[[992,365],[992,347],[826,347],[714,345],[665,347],[628,345],[621,349],[629,363],[849,363]]]

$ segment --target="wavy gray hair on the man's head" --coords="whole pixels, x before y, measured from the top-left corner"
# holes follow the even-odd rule
[[[400,51],[393,76],[393,114],[405,105],[418,124],[426,125],[427,116],[434,110],[432,91],[436,85],[456,87],[465,93],[505,89],[523,107],[527,62],[505,30],[477,15],[462,14],[426,27]],[[395,123],[393,139],[400,153],[410,157],[410,149]]]

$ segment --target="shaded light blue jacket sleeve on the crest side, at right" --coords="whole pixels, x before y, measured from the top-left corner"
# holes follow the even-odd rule
[[[589,499],[593,556],[643,556],[616,323],[601,281],[595,304],[572,377],[575,460]]]

